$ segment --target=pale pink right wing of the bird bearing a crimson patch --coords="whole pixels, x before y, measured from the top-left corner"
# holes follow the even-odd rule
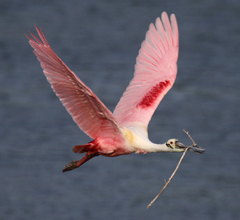
[[[150,24],[143,41],[134,78],[130,82],[113,115],[122,126],[135,122],[148,123],[164,95],[171,89],[177,75],[178,26],[174,14],[171,25],[166,12],[156,28]]]

